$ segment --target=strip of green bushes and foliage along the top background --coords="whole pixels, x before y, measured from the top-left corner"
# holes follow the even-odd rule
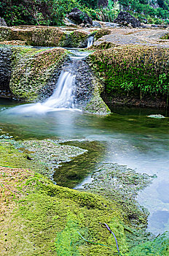
[[[9,26],[17,25],[63,25],[63,18],[72,8],[87,12],[94,20],[113,21],[119,10],[131,12],[135,18],[149,23],[169,23],[169,0],[1,0],[0,16]],[[100,7],[99,7],[100,4]]]

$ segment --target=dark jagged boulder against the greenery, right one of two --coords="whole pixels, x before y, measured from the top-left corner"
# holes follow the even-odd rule
[[[140,21],[137,20],[132,15],[130,15],[130,13],[128,12],[119,12],[119,15],[114,20],[114,23],[119,23],[125,26],[130,24],[130,26],[133,26],[133,28],[137,28],[141,26]]]

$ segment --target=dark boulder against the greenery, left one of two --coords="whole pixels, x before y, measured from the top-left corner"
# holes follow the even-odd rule
[[[68,14],[68,18],[75,21],[76,24],[90,24],[93,25],[93,20],[90,18],[87,13],[82,12],[78,8],[74,8],[71,10],[71,12]]]

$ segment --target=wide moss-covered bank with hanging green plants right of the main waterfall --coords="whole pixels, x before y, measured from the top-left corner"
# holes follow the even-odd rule
[[[105,85],[106,103],[127,105],[134,98],[133,105],[144,105],[144,99],[150,97],[165,107],[169,94],[168,53],[168,48],[124,45],[91,54],[91,66]]]

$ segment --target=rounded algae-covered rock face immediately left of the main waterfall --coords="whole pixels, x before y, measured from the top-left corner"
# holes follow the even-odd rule
[[[12,75],[9,88],[16,99],[37,102],[52,94],[53,89],[47,89],[52,74],[55,78],[60,65],[66,58],[66,50],[14,48],[12,56]],[[56,83],[52,86],[56,86]],[[47,95],[46,90],[50,95]]]

